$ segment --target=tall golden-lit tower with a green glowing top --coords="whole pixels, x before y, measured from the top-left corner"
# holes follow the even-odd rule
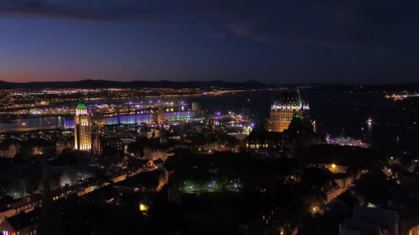
[[[74,147],[76,149],[89,151],[92,148],[90,126],[88,107],[83,102],[79,102],[74,116]]]

